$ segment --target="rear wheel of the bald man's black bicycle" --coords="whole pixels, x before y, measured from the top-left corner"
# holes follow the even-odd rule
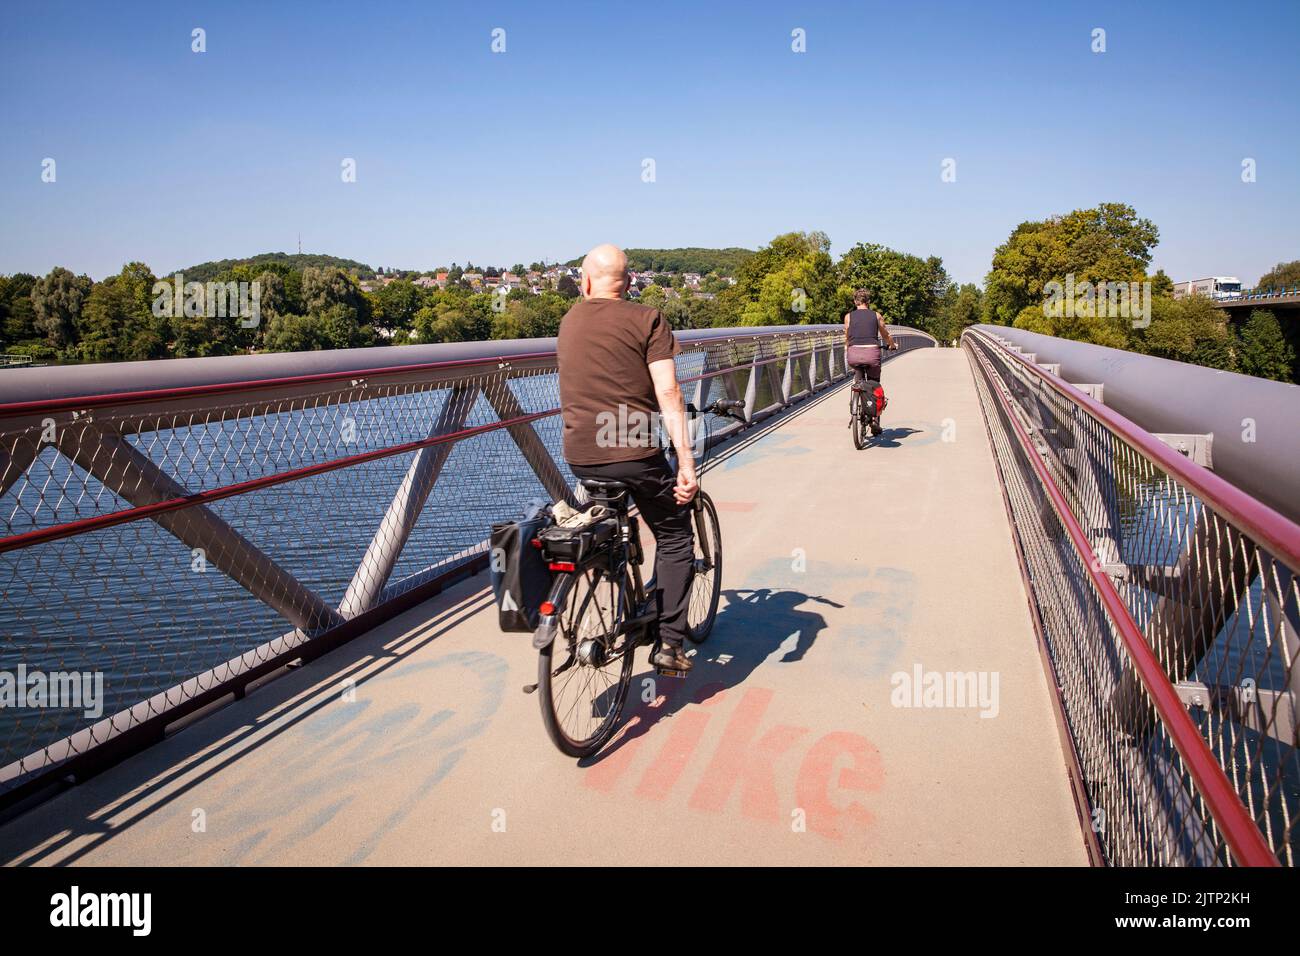
[[[560,614],[559,633],[537,656],[542,723],[560,753],[589,757],[614,734],[632,682],[630,581],[588,570]]]

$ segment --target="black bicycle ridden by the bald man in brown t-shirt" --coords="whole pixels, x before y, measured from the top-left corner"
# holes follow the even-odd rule
[[[744,405],[722,399],[705,411],[738,418]],[[686,412],[694,416],[696,408],[688,405]],[[655,584],[653,578],[641,580],[645,555],[637,516],[629,514],[628,488],[621,481],[595,479],[584,479],[582,486],[610,514],[576,533],[549,529],[540,536],[554,576],[533,636],[542,723],[569,757],[588,757],[614,735],[632,683],[636,649],[649,646],[651,658],[659,650]],[[708,636],[718,614],[723,542],[712,499],[699,490],[690,507],[696,561],[686,623],[698,644]]]

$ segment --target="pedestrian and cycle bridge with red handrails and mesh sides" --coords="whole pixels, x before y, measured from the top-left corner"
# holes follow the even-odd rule
[[[837,328],[679,333],[720,609],[578,761],[552,339],[0,372],[0,860],[1294,865],[1300,393],[892,330],[861,451]]]

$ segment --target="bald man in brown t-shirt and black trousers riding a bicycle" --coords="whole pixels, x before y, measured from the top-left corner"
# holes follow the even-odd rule
[[[623,481],[655,540],[655,597],[663,648],[654,663],[689,670],[682,652],[694,568],[688,507],[699,485],[672,356],[677,343],[655,308],[624,300],[628,260],[597,246],[582,260],[582,300],[560,321],[556,345],[564,458],[580,479]],[[658,447],[660,415],[677,473]]]

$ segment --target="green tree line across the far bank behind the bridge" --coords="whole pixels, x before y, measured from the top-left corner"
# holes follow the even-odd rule
[[[1022,222],[994,250],[980,289],[953,282],[939,256],[859,242],[836,259],[826,233],[792,232],[754,252],[722,250],[745,254],[725,264],[733,285],[714,272],[699,290],[682,286],[679,274],[636,291],[673,328],[692,329],[838,323],[852,308],[853,291],[866,287],[888,321],[923,329],[940,342],[983,321],[1300,380],[1294,328],[1284,329],[1266,310],[1231,323],[1209,299],[1174,299],[1169,277],[1148,272],[1157,242],[1156,226],[1119,203]],[[468,269],[460,267],[451,271],[445,289],[403,277],[367,291],[359,271],[344,268],[346,260],[312,261],[320,264],[272,254],[233,265],[205,264],[224,267],[204,272],[212,281],[257,284],[255,323],[211,315],[212,310],[157,308],[156,284],[169,277],[153,276],[143,263],[129,263],[99,282],[61,267],[43,277],[3,276],[0,351],[43,362],[113,362],[549,337],[578,295],[568,277],[541,294],[526,287],[476,291],[462,280]],[[1260,281],[1269,284],[1300,284],[1300,261],[1279,264]],[[1104,299],[1089,304],[1089,295],[1117,285],[1141,287],[1122,300],[1126,313],[1101,307]],[[1053,310],[1062,287],[1070,293],[1066,307]]]

